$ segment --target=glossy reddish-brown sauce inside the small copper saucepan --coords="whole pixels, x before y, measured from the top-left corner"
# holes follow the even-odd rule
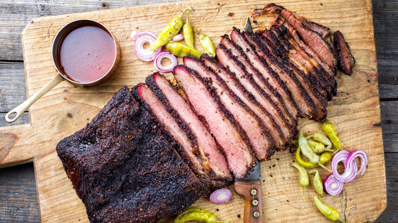
[[[108,31],[96,26],[79,26],[69,31],[60,43],[60,72],[76,82],[92,82],[108,73],[115,55],[116,46]]]

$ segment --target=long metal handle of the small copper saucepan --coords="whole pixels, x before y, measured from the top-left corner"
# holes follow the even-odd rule
[[[32,97],[28,98],[28,100],[24,101],[22,104],[18,105],[16,108],[12,109],[7,113],[6,115],[6,121],[7,122],[14,122],[19,118],[19,116],[22,115],[26,109],[28,109],[37,99],[39,99],[41,96],[43,96],[45,93],[47,93],[49,90],[53,89],[55,86],[58,85],[64,78],[61,76],[61,74],[58,74],[54,79],[49,81],[43,88],[41,88],[38,92],[36,92]],[[16,113],[16,116],[14,118],[10,118],[10,115]]]

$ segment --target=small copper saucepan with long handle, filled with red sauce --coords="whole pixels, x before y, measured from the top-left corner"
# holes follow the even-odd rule
[[[80,19],[66,24],[53,42],[53,61],[59,74],[28,100],[6,115],[14,122],[37,99],[63,80],[74,86],[94,86],[108,80],[120,63],[120,48],[113,35],[101,23]],[[16,113],[14,118],[10,115]]]

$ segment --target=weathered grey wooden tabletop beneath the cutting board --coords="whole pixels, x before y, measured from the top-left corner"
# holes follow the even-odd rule
[[[173,1],[36,0],[10,3],[10,1],[1,0],[0,126],[29,122],[28,112],[12,124],[7,123],[4,116],[9,110],[26,100],[20,32],[31,19],[160,2]],[[398,75],[394,72],[394,68],[398,64],[396,33],[398,3],[391,0],[375,0],[373,10],[388,195],[387,209],[377,222],[396,222],[398,218],[398,161],[396,161],[398,160]],[[0,222],[10,221],[39,221],[33,163],[0,169]]]

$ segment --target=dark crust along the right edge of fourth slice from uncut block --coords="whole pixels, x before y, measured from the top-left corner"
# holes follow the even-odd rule
[[[275,147],[275,145],[273,144],[273,142],[271,140],[271,136],[268,133],[268,129],[262,124],[259,117],[241,100],[241,98],[239,96],[237,96],[227,86],[227,84],[225,83],[225,81],[223,79],[221,79],[216,73],[214,73],[213,70],[208,69],[206,67],[206,65],[203,64],[202,61],[200,61],[197,58],[192,57],[190,55],[184,57],[183,60],[184,60],[184,65],[186,65],[186,66],[187,66],[187,61],[193,61],[198,66],[201,66],[205,70],[205,72],[211,73],[210,75],[209,74],[201,74],[202,72],[198,71],[198,73],[202,76],[202,78],[204,80],[208,79],[206,82],[208,82],[209,85],[213,85],[214,88],[216,88],[216,87],[220,88],[222,90],[221,94],[224,92],[227,92],[246,111],[246,113],[248,113],[250,116],[252,116],[256,120],[256,125],[258,125],[258,126],[253,126],[253,127],[259,128],[261,130],[261,134],[263,135],[263,137],[266,137],[266,141],[267,141],[267,150],[266,150],[267,154],[257,154],[257,152],[256,152],[256,157],[259,160],[269,159],[268,151],[272,150],[272,147]],[[204,77],[204,76],[209,76],[209,77]],[[255,147],[253,146],[253,148],[255,148]]]

